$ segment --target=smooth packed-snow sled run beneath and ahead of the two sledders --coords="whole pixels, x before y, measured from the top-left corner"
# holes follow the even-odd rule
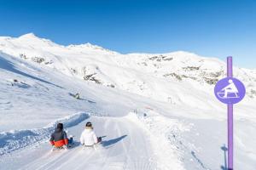
[[[97,136],[106,136],[96,150],[82,149],[79,145],[79,136],[87,121],[93,123]],[[67,129],[68,135],[74,135],[74,147],[70,150],[57,150],[50,152],[48,143],[38,148],[20,151],[17,156],[19,163],[13,167],[11,159],[5,160],[8,169],[156,169],[156,161],[152,153],[149,139],[143,129],[137,127],[134,122],[124,118],[91,116],[75,127]],[[30,162],[28,164],[22,163]],[[30,159],[31,161],[27,161]],[[3,162],[2,162],[3,163]]]

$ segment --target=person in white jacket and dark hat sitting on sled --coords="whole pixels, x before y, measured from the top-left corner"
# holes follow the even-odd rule
[[[91,122],[87,122],[85,129],[80,137],[80,142],[84,147],[92,147],[94,144],[97,144],[102,141],[102,138],[96,137],[96,133],[93,131]]]

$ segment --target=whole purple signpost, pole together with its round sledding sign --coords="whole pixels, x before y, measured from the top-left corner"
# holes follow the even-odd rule
[[[233,77],[232,57],[227,58],[227,77],[217,82],[216,98],[228,105],[228,169],[233,170],[233,104],[244,98],[246,89],[242,82]]]

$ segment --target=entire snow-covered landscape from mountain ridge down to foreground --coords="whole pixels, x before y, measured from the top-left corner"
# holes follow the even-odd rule
[[[90,44],[62,47],[32,34],[0,40],[1,170],[225,169],[226,108],[214,98],[214,86],[203,82],[223,71],[222,61],[185,52],[124,55]],[[52,64],[20,57],[25,53]],[[206,70],[210,65],[220,66]],[[176,74],[167,74],[170,68]],[[248,90],[235,106],[234,168],[253,170],[256,73],[235,71]],[[76,93],[81,99],[73,98]],[[103,137],[95,150],[79,144],[89,121]],[[49,136],[58,122],[74,144],[52,152]]]

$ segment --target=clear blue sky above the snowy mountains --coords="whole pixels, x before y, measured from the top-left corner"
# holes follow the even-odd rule
[[[235,65],[256,68],[254,0],[0,0],[0,36],[28,32],[122,54],[232,55]]]

